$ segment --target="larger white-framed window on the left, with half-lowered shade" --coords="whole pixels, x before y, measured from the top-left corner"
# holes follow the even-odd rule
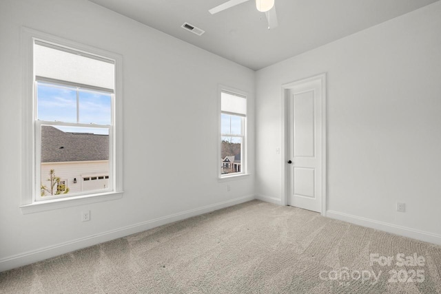
[[[121,193],[121,57],[25,33],[32,52],[25,148],[32,151],[25,150],[23,178],[31,184],[22,207]]]

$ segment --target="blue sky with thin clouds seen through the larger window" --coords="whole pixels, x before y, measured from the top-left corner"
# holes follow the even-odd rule
[[[112,96],[99,92],[79,91],[79,107],[76,103],[76,89],[58,87],[44,83],[37,86],[37,119],[84,123],[97,125],[112,124]],[[76,114],[79,113],[79,121]],[[107,129],[93,127],[59,127],[64,132],[93,132],[108,134]]]

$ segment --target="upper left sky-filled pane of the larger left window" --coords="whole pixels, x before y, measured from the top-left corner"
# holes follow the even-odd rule
[[[76,123],[76,90],[37,83],[37,118]]]

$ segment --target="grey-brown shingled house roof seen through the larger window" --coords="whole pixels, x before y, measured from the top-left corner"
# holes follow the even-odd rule
[[[109,136],[63,132],[41,126],[41,162],[109,159]]]

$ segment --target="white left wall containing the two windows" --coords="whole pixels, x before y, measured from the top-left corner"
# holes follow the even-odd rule
[[[21,26],[123,55],[122,199],[21,213]],[[252,70],[85,0],[2,0],[0,37],[0,271],[254,198]],[[231,182],[217,179],[218,84],[249,93],[252,175]]]

